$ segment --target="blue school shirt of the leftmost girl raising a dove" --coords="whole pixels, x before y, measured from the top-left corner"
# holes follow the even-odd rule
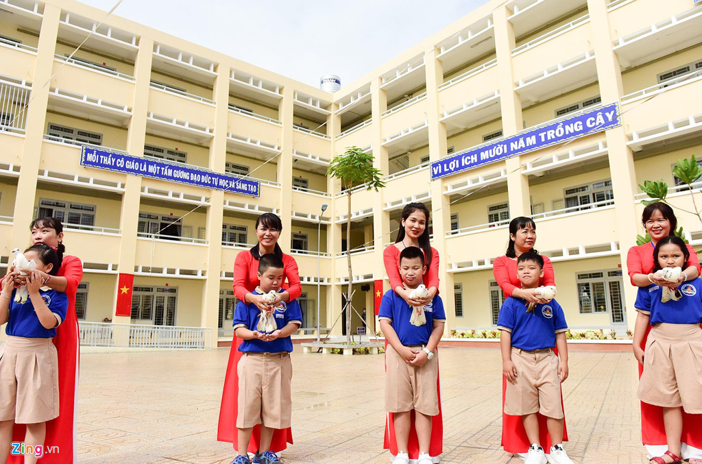
[[[27,302],[15,303],[15,293],[12,291],[12,300],[10,300],[10,320],[7,322],[5,333],[8,336],[24,337],[24,338],[52,338],[56,336],[56,329],[46,329],[39,322],[37,313],[34,312],[32,300],[27,297]],[[57,314],[61,318],[61,322],[66,319],[66,311],[68,310],[68,297],[65,293],[55,291],[53,289],[43,291],[39,289],[39,295],[44,300],[49,311]]]

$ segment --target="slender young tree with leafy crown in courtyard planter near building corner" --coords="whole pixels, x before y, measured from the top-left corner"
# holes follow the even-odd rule
[[[363,185],[366,190],[376,190],[385,187],[383,180],[380,180],[380,169],[373,167],[373,155],[368,154],[354,145],[346,147],[343,154],[338,154],[329,163],[329,171],[326,175],[341,180],[341,187],[346,190],[348,199],[348,214],[346,218],[346,258],[349,267],[349,285],[346,293],[346,343],[351,343],[351,311],[353,305],[351,301],[352,273],[351,273],[351,194],[354,187]]]

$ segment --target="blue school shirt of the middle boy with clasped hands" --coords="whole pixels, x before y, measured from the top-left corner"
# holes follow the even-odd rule
[[[412,307],[393,290],[388,290],[383,295],[383,301],[378,310],[378,319],[390,321],[395,329],[399,343],[408,345],[426,345],[434,330],[434,321],[446,321],[444,302],[440,296],[435,296],[428,305],[424,306],[424,316],[427,323],[423,326],[413,326],[409,323],[412,317]]]

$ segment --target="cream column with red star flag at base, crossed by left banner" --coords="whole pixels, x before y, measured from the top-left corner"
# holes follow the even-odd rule
[[[144,154],[153,49],[154,41],[143,37],[139,42],[139,51],[134,63],[134,100],[132,102],[132,117],[127,129],[127,152],[133,156],[142,156]],[[141,185],[142,181],[139,176],[126,176],[119,221],[122,238],[119,242],[119,263],[117,263],[117,270],[124,274],[134,273],[134,251],[136,249],[137,227],[139,224]],[[129,324],[129,317],[114,315],[114,310],[117,307],[117,293],[117,283],[115,282],[112,322],[114,324]]]

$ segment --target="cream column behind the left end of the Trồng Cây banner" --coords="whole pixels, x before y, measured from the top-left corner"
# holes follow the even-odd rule
[[[442,62],[437,60],[438,51],[432,48],[424,55],[424,65],[427,77],[427,124],[429,126],[429,159],[439,161],[446,153],[446,124],[439,121],[439,85],[444,82]],[[429,176],[430,173],[428,172]],[[444,180],[433,180],[432,194],[432,225],[434,239],[432,246],[439,252],[439,294],[446,308],[446,326],[444,336],[448,335],[449,327],[456,317],[453,308],[453,274],[446,272],[451,255],[446,248],[444,231],[451,230],[451,200],[444,195]]]

